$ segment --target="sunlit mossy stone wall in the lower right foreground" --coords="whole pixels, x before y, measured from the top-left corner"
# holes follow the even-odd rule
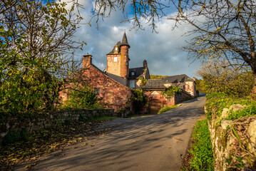
[[[234,106],[208,122],[215,170],[256,170],[256,116],[225,120]]]

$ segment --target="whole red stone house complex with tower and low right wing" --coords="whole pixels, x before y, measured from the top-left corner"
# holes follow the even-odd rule
[[[153,106],[160,109],[163,105],[175,105],[181,100],[195,97],[195,82],[185,75],[169,76],[163,79],[150,79],[150,72],[147,61],[143,66],[129,68],[129,48],[126,33],[123,34],[122,42],[118,41],[113,50],[106,54],[107,67],[101,71],[93,65],[92,56],[87,53],[83,56],[83,67],[76,73],[76,77],[88,81],[95,89],[101,103],[115,111],[130,105],[133,111],[133,104],[128,100],[133,95],[130,88],[143,88],[147,96],[149,108],[145,113],[152,113]],[[147,80],[147,82],[145,82]],[[178,86],[183,89],[182,96],[174,95],[173,98],[165,98],[160,94],[161,90],[170,86]],[[67,99],[66,93],[61,92],[63,100]]]

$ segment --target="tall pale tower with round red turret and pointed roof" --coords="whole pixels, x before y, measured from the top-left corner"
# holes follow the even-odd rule
[[[130,45],[127,41],[126,32],[123,33],[122,42],[118,41],[113,50],[107,54],[108,76],[127,86],[128,70],[129,70],[129,49]]]

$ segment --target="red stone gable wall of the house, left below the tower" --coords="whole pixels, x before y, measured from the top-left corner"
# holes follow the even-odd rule
[[[82,68],[79,71],[80,79],[88,81],[93,88],[99,88],[99,98],[101,103],[106,104],[107,108],[113,108],[115,112],[119,109],[125,108],[128,99],[132,95],[130,88],[123,86],[121,83],[114,81],[108,77],[106,73],[96,68],[96,66],[89,65],[87,68]],[[66,93],[60,93],[65,98]]]

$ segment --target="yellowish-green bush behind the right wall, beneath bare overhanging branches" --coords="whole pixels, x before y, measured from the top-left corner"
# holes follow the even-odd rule
[[[222,92],[241,97],[251,92],[255,82],[251,72],[229,66],[227,61],[205,63],[197,74],[203,78],[206,93]]]

